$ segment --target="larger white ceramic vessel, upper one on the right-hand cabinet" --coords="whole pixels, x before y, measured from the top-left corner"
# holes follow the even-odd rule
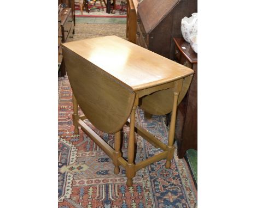
[[[190,42],[190,36],[197,34],[197,13],[191,17],[184,17],[181,21],[181,31],[185,41]]]

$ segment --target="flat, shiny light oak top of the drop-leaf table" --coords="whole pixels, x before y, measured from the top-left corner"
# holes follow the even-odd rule
[[[194,71],[115,35],[62,44],[133,91],[187,77]]]

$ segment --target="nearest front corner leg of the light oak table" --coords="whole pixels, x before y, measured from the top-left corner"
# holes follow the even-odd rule
[[[126,177],[127,182],[126,185],[128,187],[132,186],[132,178],[135,176],[135,164],[133,162],[134,160],[134,146],[135,146],[135,110],[136,106],[133,106],[132,112],[131,112],[131,123],[130,123],[130,137],[128,141],[128,163],[126,166]]]

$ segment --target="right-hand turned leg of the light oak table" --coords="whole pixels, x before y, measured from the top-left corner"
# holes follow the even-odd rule
[[[167,149],[167,158],[166,158],[166,168],[171,167],[171,159],[173,157],[174,152],[174,131],[175,131],[175,121],[176,121],[176,111],[177,111],[177,103],[178,103],[178,96],[179,92],[173,92],[174,99],[173,99],[173,107],[172,107],[172,117],[171,117],[171,124],[168,134],[168,149]]]

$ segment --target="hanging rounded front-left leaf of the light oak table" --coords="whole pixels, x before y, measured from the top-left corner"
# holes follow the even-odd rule
[[[135,93],[66,47],[63,57],[75,99],[92,125],[106,133],[122,129],[131,113]]]

